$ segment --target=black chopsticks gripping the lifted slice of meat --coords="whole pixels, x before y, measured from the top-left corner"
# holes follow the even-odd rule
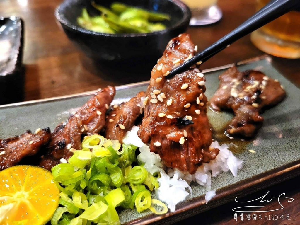
[[[247,19],[240,26],[235,28],[232,32],[225,35],[223,38],[216,41],[202,52],[199,52],[193,58],[190,58],[188,61],[174,68],[172,71],[170,71],[170,74],[166,76],[166,78],[170,79],[176,74],[182,73],[193,64],[202,64],[218,52],[228,47],[233,42],[264,26],[279,16],[289,12],[299,4],[299,0],[274,0],[269,2],[267,5],[265,5],[265,7]]]

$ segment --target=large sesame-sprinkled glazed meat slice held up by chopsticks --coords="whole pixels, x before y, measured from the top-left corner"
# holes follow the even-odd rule
[[[211,148],[211,130],[206,116],[205,77],[194,66],[167,80],[174,67],[191,58],[194,44],[189,35],[172,39],[152,70],[145,112],[138,131],[151,152],[161,156],[168,167],[195,173],[202,162],[214,159],[219,150]]]

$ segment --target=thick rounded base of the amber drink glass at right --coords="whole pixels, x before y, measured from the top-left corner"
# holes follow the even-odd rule
[[[300,58],[299,42],[284,41],[260,30],[252,32],[250,39],[258,49],[268,54],[282,58]]]

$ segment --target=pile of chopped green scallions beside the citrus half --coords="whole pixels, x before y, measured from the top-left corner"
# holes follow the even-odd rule
[[[138,212],[150,209],[156,214],[167,212],[167,206],[151,199],[157,178],[143,166],[136,165],[136,146],[122,145],[98,134],[82,141],[69,163],[52,167],[60,193],[60,206],[52,225],[120,224],[116,207]],[[163,209],[158,211],[155,205]]]

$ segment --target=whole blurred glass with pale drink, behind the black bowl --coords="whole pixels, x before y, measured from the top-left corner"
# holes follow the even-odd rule
[[[217,0],[181,0],[192,11],[190,26],[203,26],[215,23],[222,18]]]

